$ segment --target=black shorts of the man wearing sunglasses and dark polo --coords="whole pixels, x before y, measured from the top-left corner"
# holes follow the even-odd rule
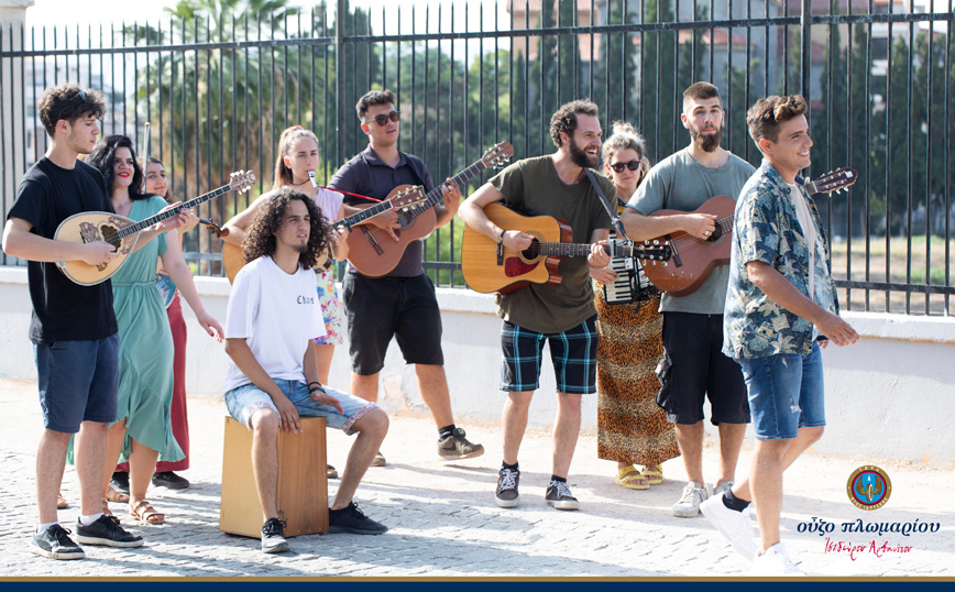
[[[355,374],[381,372],[392,337],[407,363],[444,364],[441,309],[427,274],[365,277],[347,273],[342,300],[348,310],[349,353]]]

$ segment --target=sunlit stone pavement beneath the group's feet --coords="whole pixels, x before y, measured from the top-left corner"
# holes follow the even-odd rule
[[[540,394],[538,396],[546,396]],[[502,396],[489,397],[493,405]],[[356,500],[391,530],[377,537],[304,536],[289,539],[293,552],[271,556],[259,540],[222,534],[219,483],[222,471],[224,405],[189,399],[193,486],[173,492],[153,487],[150,498],[166,513],[162,526],[131,526],[146,544],[140,549],[87,546],[85,561],[53,561],[29,552],[35,527],[34,453],[41,431],[36,384],[0,379],[4,425],[0,430],[0,573],[4,577],[660,577],[743,575],[749,566],[702,517],[674,518],[685,474],[679,459],[665,464],[667,480],[649,491],[614,484],[615,464],[596,459],[594,435],[582,435],[570,486],[580,512],[559,512],[544,502],[550,474],[549,434],[530,430],[520,452],[520,507],[500,509],[493,501],[501,462],[501,430],[494,423],[459,419],[485,456],[442,463],[435,449],[430,418],[404,414],[392,418],[382,452],[384,468],[369,470]],[[351,440],[329,431],[329,462],[340,470]],[[747,442],[740,473],[748,468]],[[704,460],[716,462],[707,442]],[[888,504],[863,512],[849,504],[846,480],[863,464],[878,464],[892,481]],[[712,474],[713,471],[710,471]],[[333,489],[337,481],[330,482]],[[786,474],[782,539],[801,569],[812,575],[955,575],[955,520],[951,491],[955,468],[932,468],[885,459],[824,457],[808,452]],[[63,493],[73,503],[79,491],[67,468]],[[333,494],[333,491],[330,491]],[[113,504],[118,514],[121,505]],[[123,508],[124,509],[124,508]],[[61,511],[64,525],[78,507]],[[125,512],[122,512],[124,515]],[[800,533],[812,518],[836,523],[825,536]],[[843,522],[868,524],[938,523],[936,533],[843,533]],[[863,546],[852,556],[826,551],[826,539]],[[910,547],[908,552],[872,552],[878,547]]]

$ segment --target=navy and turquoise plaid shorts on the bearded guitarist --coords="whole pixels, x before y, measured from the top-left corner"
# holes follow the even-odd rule
[[[501,390],[537,391],[544,343],[550,344],[550,360],[557,377],[557,392],[573,395],[596,393],[596,315],[560,333],[538,333],[513,322],[501,327]]]

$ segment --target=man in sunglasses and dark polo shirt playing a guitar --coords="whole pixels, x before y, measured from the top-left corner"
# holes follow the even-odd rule
[[[362,131],[369,136],[369,147],[334,174],[330,188],[378,200],[399,185],[433,189],[425,163],[398,151],[400,113],[395,110],[395,101],[391,90],[372,90],[359,99],[355,111]],[[432,213],[435,228],[454,218],[461,199],[460,189],[450,178],[441,191],[443,205],[436,205]],[[355,205],[367,201],[347,195],[345,213],[358,212]],[[398,213],[386,211],[352,230],[358,239],[350,238],[349,243],[377,235],[381,238],[377,245],[387,249],[389,242],[394,246],[399,241],[400,228]],[[468,441],[464,430],[454,425],[441,350],[441,310],[435,286],[421,266],[422,251],[420,241],[409,242],[397,265],[375,277],[363,275],[355,264],[349,265],[342,281],[342,299],[348,311],[351,392],[365,401],[377,401],[378,373],[384,368],[388,343],[395,337],[405,361],[415,364],[418,390],[438,426],[438,456],[443,460],[480,457],[484,447]],[[378,452],[373,467],[384,463]]]

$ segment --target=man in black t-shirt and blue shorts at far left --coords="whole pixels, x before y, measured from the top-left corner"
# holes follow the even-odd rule
[[[7,215],[3,252],[28,260],[33,315],[30,340],[36,361],[44,430],[36,451],[36,505],[40,526],[30,550],[52,559],[81,559],[80,549],[59,526],[56,497],[69,438],[76,439],[76,472],[83,489],[77,540],[89,545],[139,547],[142,537],[123,530],[102,514],[106,432],[117,416],[119,336],[112,284],[73,283],[56,262],[108,263],[116,249],[107,242],[85,244],[53,240],[61,222],[84,211],[112,212],[102,175],[77,161],[89,154],[99,135],[102,97],[75,85],[48,88],[40,100],[40,120],[50,134],[46,154],[20,183]],[[141,233],[139,246],[182,226],[175,216]]]

